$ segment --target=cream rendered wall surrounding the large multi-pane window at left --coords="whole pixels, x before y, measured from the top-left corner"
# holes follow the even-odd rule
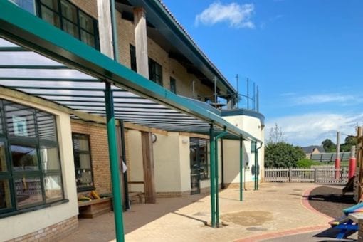
[[[61,166],[63,175],[63,189],[65,199],[69,202],[50,206],[46,209],[30,211],[24,214],[14,215],[0,219],[1,241],[16,238],[24,234],[33,233],[54,223],[59,223],[78,215],[78,199],[75,187],[75,168],[73,162],[73,145],[70,129],[70,117],[68,114],[43,107],[28,100],[11,98],[6,93],[0,93],[0,98],[11,100],[23,105],[28,105],[38,110],[44,110],[56,115],[59,153],[61,155]],[[9,229],[10,228],[10,229]]]

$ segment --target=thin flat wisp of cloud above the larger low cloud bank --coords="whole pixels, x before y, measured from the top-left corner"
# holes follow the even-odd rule
[[[306,95],[294,98],[294,102],[296,105],[312,105],[327,102],[339,102],[341,104],[344,104],[347,102],[354,102],[354,100],[357,100],[357,97],[354,97],[354,95],[342,95],[339,93]]]

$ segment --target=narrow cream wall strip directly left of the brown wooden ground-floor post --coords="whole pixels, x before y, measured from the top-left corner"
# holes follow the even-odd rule
[[[141,132],[128,130],[128,145],[130,149],[130,191],[144,192],[144,184],[132,184],[132,181],[144,181],[144,164],[142,162]]]

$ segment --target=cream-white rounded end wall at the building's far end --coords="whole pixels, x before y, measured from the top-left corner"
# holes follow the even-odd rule
[[[257,117],[251,117],[248,115],[235,115],[235,116],[227,116],[223,117],[228,122],[231,122],[232,125],[236,125],[236,127],[240,128],[241,130],[245,130],[246,132],[250,133],[254,137],[258,138],[259,140],[265,139],[264,134],[264,127],[261,124],[261,120]],[[260,147],[261,144],[257,144],[257,147]],[[224,150],[225,150],[225,161],[231,160],[233,162],[229,162],[228,165],[225,165],[225,179],[224,182],[228,183],[239,183],[239,159],[235,158],[235,155],[231,156],[231,152],[235,152],[235,147],[239,146],[238,140],[225,140]],[[239,148],[237,148],[239,150]],[[228,152],[226,152],[228,150]],[[259,179],[263,179],[264,174],[264,144],[261,149],[258,149],[258,164],[260,166],[260,174]],[[247,169],[244,172],[246,177],[246,182],[253,181],[253,176],[251,172],[251,168],[255,162],[255,154],[251,154],[251,142],[250,141],[243,141],[243,161],[247,162]],[[226,162],[225,162],[226,164]],[[245,163],[246,164],[246,163]],[[236,172],[236,168],[237,171]],[[243,179],[243,180],[244,180]]]

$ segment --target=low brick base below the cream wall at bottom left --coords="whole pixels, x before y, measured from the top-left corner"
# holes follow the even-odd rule
[[[73,216],[70,219],[61,221],[59,223],[53,224],[41,230],[35,231],[33,233],[28,233],[25,236],[20,236],[18,238],[13,238],[8,242],[15,241],[57,241],[65,236],[70,235],[78,228],[78,218]]]

